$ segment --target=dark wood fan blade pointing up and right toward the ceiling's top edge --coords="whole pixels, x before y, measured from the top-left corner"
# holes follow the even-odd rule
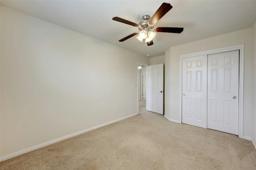
[[[155,24],[157,21],[159,21],[168,11],[172,9],[171,4],[163,3],[158,10],[155,12],[155,14],[150,18],[149,23]]]

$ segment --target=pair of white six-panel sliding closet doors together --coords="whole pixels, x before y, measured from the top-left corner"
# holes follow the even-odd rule
[[[239,50],[182,59],[182,123],[238,135]]]

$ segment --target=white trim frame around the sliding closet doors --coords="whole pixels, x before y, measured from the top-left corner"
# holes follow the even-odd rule
[[[196,57],[199,55],[210,55],[215,53],[223,53],[228,51],[239,50],[239,101],[238,101],[238,137],[244,139],[244,44],[201,51],[180,55],[180,115],[179,123],[182,123],[182,59],[188,57]]]

